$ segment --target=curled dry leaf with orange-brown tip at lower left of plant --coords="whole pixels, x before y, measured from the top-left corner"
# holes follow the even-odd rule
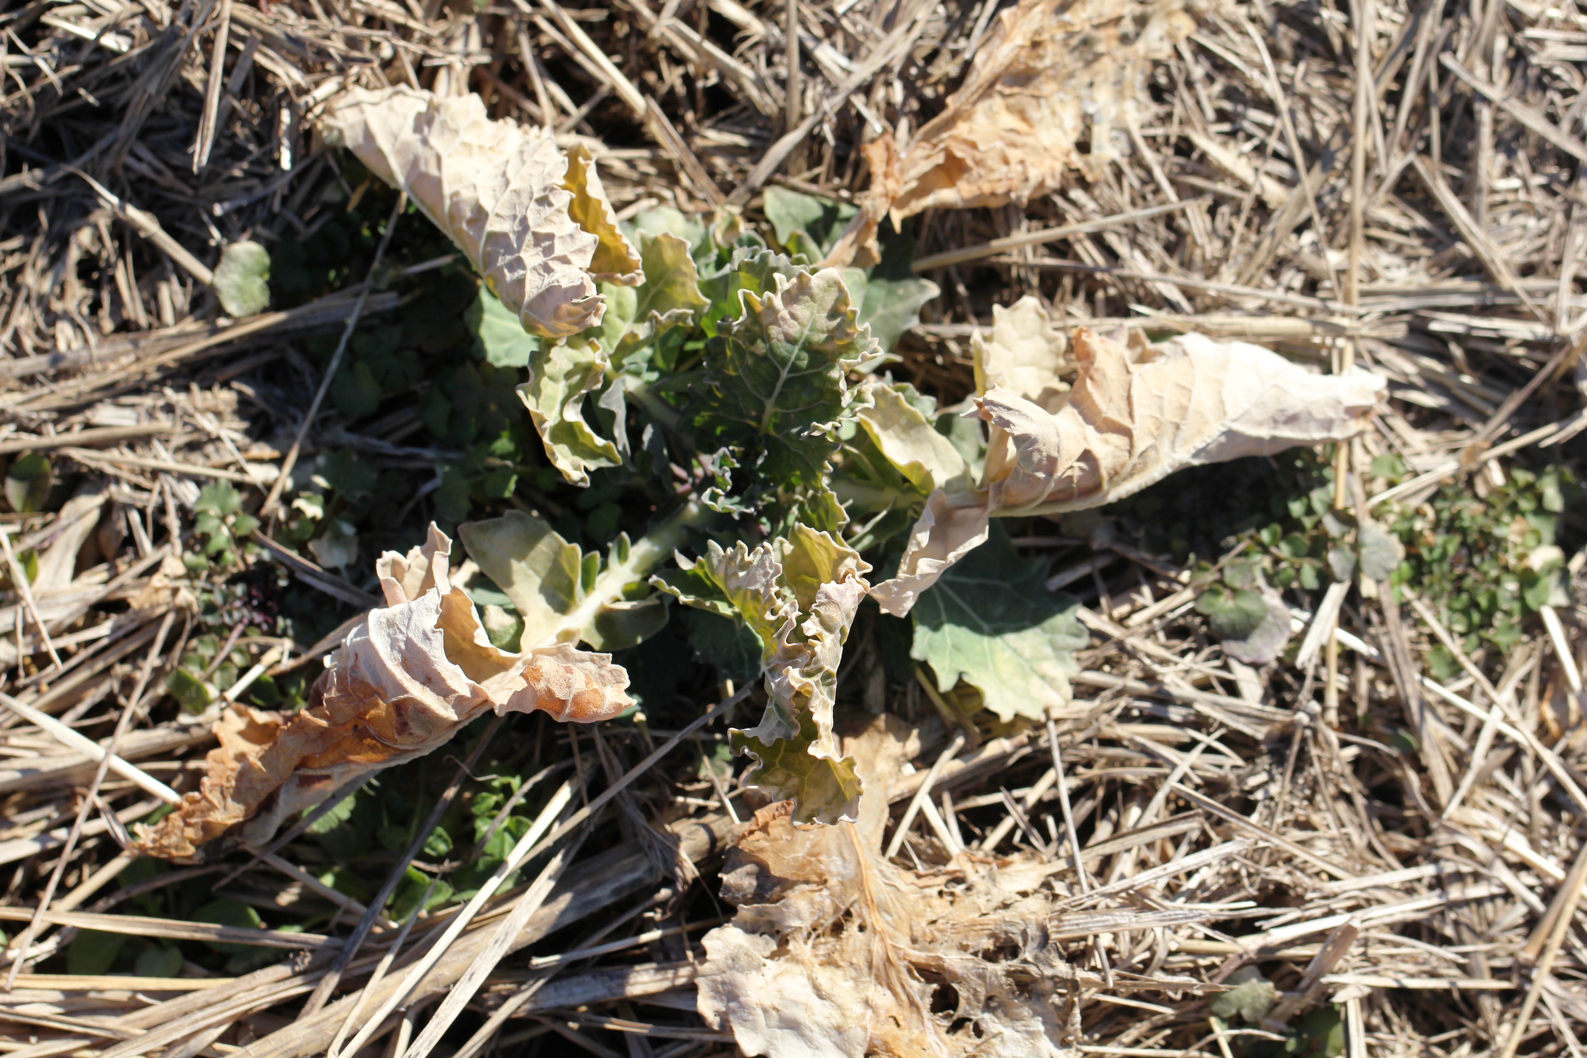
[[[628,674],[609,654],[571,642],[508,654],[448,576],[452,542],[435,525],[424,547],[376,562],[386,606],[354,628],[297,715],[232,706],[216,723],[198,792],[154,826],[141,852],[192,861],[225,834],[267,841],[294,812],[360,774],[444,746],[487,709],[543,709],[589,723],[627,709]]]

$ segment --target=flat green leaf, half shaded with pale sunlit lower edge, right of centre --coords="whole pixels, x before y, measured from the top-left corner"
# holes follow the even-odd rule
[[[1070,701],[1074,652],[1087,634],[1079,601],[1047,592],[1041,562],[1025,562],[1001,528],[941,574],[914,606],[909,657],[936,674],[938,690],[963,679],[986,707],[1009,720],[1041,719]]]

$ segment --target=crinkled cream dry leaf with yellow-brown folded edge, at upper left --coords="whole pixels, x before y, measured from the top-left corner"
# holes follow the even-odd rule
[[[595,282],[638,286],[595,159],[541,128],[490,121],[478,95],[351,89],[322,128],[446,232],[524,330],[565,338],[600,324]]]

